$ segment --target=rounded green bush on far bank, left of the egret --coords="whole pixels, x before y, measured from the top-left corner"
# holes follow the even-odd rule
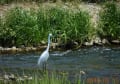
[[[16,7],[8,11],[5,16],[5,27],[8,28],[6,41],[10,39],[13,45],[35,44],[39,42],[39,30],[36,15],[33,11],[26,11]]]

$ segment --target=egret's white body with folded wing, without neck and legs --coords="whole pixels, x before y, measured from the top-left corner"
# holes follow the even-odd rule
[[[43,63],[47,61],[48,57],[49,57],[49,52],[44,51],[38,59],[38,65],[42,66]]]

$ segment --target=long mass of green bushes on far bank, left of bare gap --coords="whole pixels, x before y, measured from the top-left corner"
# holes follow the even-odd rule
[[[40,7],[36,13],[15,7],[1,21],[0,44],[9,47],[37,45],[41,41],[47,42],[49,32],[62,39],[61,43],[67,44],[71,39],[82,43],[88,38],[89,19],[88,13],[80,9],[74,11],[57,6],[49,9]]]

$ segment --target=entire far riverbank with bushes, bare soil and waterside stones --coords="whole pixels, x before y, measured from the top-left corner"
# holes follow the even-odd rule
[[[114,20],[116,15],[108,16],[110,13],[105,11],[104,6],[96,3],[71,2],[0,5],[0,54],[42,51],[47,47],[49,32],[54,35],[52,50],[120,45],[119,19]],[[111,7],[117,9],[112,3],[108,3],[107,7],[106,9]],[[113,11],[114,8],[110,10]],[[103,14],[106,16],[103,16],[107,17],[106,19],[100,16],[101,10],[104,10]],[[119,15],[119,11],[113,13]],[[108,26],[104,23],[108,23]],[[41,45],[42,42],[44,45]],[[33,45],[35,47],[29,47]]]

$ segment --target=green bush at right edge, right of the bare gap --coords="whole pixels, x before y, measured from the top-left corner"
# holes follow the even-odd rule
[[[114,2],[106,3],[103,9],[100,13],[99,35],[109,40],[120,39],[120,9]]]

